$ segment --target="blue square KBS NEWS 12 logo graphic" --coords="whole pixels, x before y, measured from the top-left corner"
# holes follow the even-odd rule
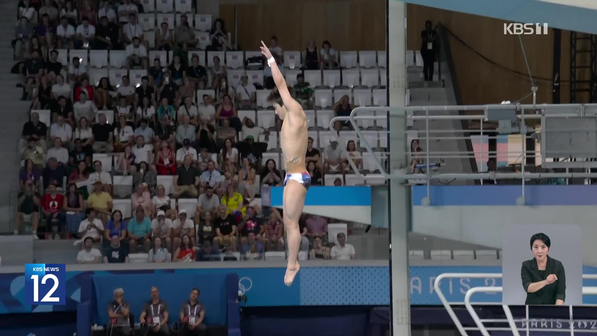
[[[64,264],[25,264],[27,304],[63,306],[66,304]]]

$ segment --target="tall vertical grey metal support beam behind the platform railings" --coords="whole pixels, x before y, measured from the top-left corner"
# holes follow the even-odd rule
[[[387,44],[387,101],[390,106],[405,106],[407,89],[406,66],[406,4],[402,1],[387,1],[386,21]],[[400,172],[408,167],[407,116],[387,114],[388,169]],[[358,128],[358,127],[357,127]],[[409,336],[410,292],[408,276],[408,227],[410,224],[410,188],[404,178],[389,180],[387,213],[389,214],[390,236],[390,328],[393,336]]]

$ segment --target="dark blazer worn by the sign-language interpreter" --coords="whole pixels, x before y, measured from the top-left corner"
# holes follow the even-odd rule
[[[558,277],[556,282],[544,286],[537,292],[527,292],[531,283],[547,279],[549,274],[555,274]],[[537,267],[537,259],[533,258],[522,262],[521,268],[522,288],[527,292],[525,304],[555,304],[556,300],[565,301],[566,299],[566,274],[562,262],[547,256],[547,264],[543,276]]]

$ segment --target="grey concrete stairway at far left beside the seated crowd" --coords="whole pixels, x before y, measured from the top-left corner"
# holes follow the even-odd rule
[[[5,36],[0,44],[0,233],[13,229],[14,212],[16,211],[16,194],[19,190],[19,153],[18,140],[23,124],[28,120],[27,110],[31,102],[21,102],[21,89],[15,85],[20,83],[20,75],[10,74],[16,63],[13,60],[13,48],[10,45],[14,36],[17,2],[0,0],[0,35]]]

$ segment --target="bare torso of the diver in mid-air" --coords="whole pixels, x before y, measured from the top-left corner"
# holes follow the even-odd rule
[[[300,105],[296,105],[290,109],[300,111],[286,112],[280,132],[280,147],[284,154],[287,174],[306,171],[304,158],[307,152],[307,117]]]

